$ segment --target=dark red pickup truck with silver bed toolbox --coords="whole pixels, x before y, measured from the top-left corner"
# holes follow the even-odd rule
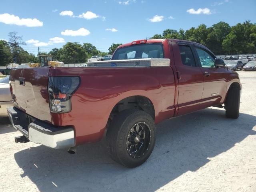
[[[16,142],[70,153],[99,141],[106,130],[110,156],[135,167],[154,148],[155,124],[223,105],[228,118],[238,118],[241,88],[238,74],[201,44],[138,40],[87,67],[11,70],[14,107],[8,114],[23,134]]]

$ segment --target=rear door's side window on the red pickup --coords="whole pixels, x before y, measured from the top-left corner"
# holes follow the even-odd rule
[[[180,57],[182,63],[186,66],[196,67],[196,62],[192,54],[190,46],[180,45]]]

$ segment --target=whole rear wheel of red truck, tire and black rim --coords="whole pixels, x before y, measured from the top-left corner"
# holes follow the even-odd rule
[[[106,134],[111,158],[129,168],[143,164],[154,149],[155,124],[150,114],[135,109],[120,112]]]

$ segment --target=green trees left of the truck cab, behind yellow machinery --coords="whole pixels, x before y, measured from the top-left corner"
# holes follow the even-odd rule
[[[22,63],[38,63],[38,55],[28,53],[22,48],[26,43],[22,40],[22,36],[18,36],[17,32],[8,34],[8,42],[0,40],[0,66],[11,62],[18,64]],[[80,44],[78,42],[68,42],[62,48],[53,48],[50,52],[40,52],[40,55],[52,55],[54,60],[66,63],[84,63],[93,55],[108,55],[113,54],[116,48],[121,44],[112,44],[108,48],[109,52],[101,52],[97,50],[91,43]]]

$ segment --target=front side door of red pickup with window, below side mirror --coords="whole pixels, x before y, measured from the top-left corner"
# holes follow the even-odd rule
[[[202,104],[200,108],[207,108],[219,104],[226,95],[226,68],[214,66],[215,56],[210,51],[201,46],[194,46],[196,60],[204,74],[204,91],[202,94]]]

